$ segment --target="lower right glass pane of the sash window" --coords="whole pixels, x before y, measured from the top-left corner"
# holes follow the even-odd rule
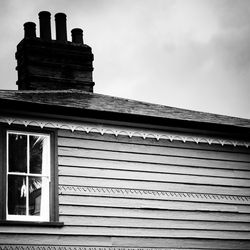
[[[29,177],[29,215],[40,215],[42,178]]]

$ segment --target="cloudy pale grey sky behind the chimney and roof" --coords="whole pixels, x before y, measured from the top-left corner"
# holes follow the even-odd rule
[[[250,119],[249,0],[0,0],[0,89],[38,13],[67,15],[94,53],[94,92]]]

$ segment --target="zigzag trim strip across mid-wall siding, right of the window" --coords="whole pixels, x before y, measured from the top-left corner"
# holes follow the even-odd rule
[[[250,204],[250,196],[60,185],[59,194]]]

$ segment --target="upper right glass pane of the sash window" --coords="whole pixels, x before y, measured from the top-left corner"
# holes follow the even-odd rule
[[[30,136],[30,173],[41,174],[44,136]]]

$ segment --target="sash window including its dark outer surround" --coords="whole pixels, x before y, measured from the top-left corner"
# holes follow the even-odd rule
[[[2,131],[1,223],[58,223],[54,140],[51,131]]]

